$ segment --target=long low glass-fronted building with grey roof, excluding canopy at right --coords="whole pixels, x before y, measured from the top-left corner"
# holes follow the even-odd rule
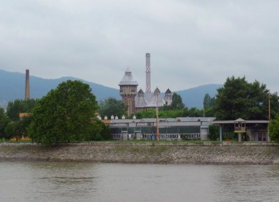
[[[209,124],[214,117],[158,118],[159,139],[208,139]],[[156,118],[112,119],[112,139],[154,139]]]

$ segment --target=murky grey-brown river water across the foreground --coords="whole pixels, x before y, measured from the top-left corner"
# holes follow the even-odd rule
[[[279,201],[279,165],[0,162],[0,201]]]

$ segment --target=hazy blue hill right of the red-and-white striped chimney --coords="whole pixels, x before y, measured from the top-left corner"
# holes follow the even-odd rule
[[[184,91],[176,91],[176,93],[179,93],[179,95],[181,95],[182,101],[186,105],[186,107],[197,107],[199,109],[202,109],[204,105],[204,95],[206,93],[209,93],[211,98],[213,98],[217,93],[217,89],[222,86],[223,84],[207,84],[204,86],[190,88]]]

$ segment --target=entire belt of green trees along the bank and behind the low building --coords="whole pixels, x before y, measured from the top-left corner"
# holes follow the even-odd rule
[[[204,95],[204,108],[186,107],[181,95],[174,93],[172,104],[160,107],[160,118],[211,116],[218,120],[273,120],[270,137],[279,141],[279,98],[259,81],[249,83],[245,77],[228,77],[216,97]],[[270,106],[270,107],[269,107]],[[115,98],[96,101],[88,84],[63,81],[40,100],[15,100],[7,111],[0,109],[0,137],[16,139],[27,136],[37,143],[51,145],[59,142],[110,139],[110,129],[96,118],[126,115],[127,106]],[[270,109],[270,111],[269,111]],[[29,113],[21,119],[20,112]],[[156,109],[137,111],[137,118],[156,118]]]

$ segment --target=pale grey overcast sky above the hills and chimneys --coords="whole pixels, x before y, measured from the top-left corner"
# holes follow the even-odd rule
[[[243,77],[278,91],[279,1],[1,0],[0,69],[119,88],[127,67],[145,90]]]

